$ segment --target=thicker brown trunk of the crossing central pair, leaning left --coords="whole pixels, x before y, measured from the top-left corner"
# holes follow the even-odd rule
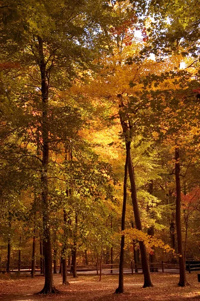
[[[130,150],[129,150],[130,152]],[[130,160],[129,160],[129,178],[131,182],[131,198],[133,203],[133,211],[135,216],[135,223],[136,228],[140,231],[142,231],[142,224],[140,220],[140,213],[139,213],[139,207],[137,202],[137,194],[136,194],[136,185],[135,185],[135,174],[134,174],[134,167],[131,160],[131,154],[130,154]],[[151,281],[151,274],[149,269],[149,262],[147,259],[147,251],[146,247],[143,241],[139,241],[140,246],[140,253],[141,253],[141,261],[142,261],[142,271],[144,274],[144,285],[143,287],[151,287],[153,286]]]

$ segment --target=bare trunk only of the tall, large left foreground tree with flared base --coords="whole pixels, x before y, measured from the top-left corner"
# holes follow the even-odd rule
[[[56,293],[58,290],[53,284],[52,274],[52,247],[50,233],[50,213],[48,206],[48,164],[49,164],[49,126],[48,126],[48,81],[43,40],[38,37],[39,66],[41,72],[41,93],[42,93],[42,205],[43,205],[43,231],[44,231],[44,269],[45,283],[40,293]]]

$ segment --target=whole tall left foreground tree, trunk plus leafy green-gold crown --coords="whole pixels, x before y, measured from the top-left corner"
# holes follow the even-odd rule
[[[20,7],[20,9],[19,9]],[[105,10],[106,9],[106,10]],[[98,10],[98,17],[96,15]],[[13,61],[18,61],[26,69],[24,79],[28,80],[24,95],[26,105],[33,100],[32,114],[40,126],[41,198],[44,232],[45,284],[41,293],[56,293],[52,278],[52,250],[50,234],[49,203],[49,149],[51,140],[50,102],[56,95],[57,83],[62,78],[62,87],[67,89],[71,81],[77,79],[75,68],[84,71],[96,52],[96,38],[101,38],[101,23],[109,11],[107,2],[99,1],[95,8],[91,1],[73,3],[62,1],[43,4],[24,1],[8,2],[2,10],[3,24],[1,40],[4,47],[2,59],[8,53]],[[102,19],[101,19],[102,18]],[[16,30],[18,28],[18,30]],[[90,42],[90,47],[88,45]],[[12,48],[12,50],[11,50]],[[15,49],[15,53],[13,50]],[[92,52],[93,51],[93,52]],[[34,73],[30,74],[30,68]],[[59,70],[59,72],[57,72]],[[67,74],[67,76],[66,76]],[[18,74],[19,76],[19,74]],[[56,91],[56,92],[55,92]],[[38,93],[39,92],[39,93]],[[37,111],[37,112],[36,112]],[[29,124],[30,125],[30,124]],[[28,126],[29,126],[28,125]],[[35,127],[32,124],[33,138]]]

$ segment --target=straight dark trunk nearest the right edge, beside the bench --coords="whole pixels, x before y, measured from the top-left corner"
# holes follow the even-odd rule
[[[177,232],[177,245],[179,254],[179,286],[188,285],[185,275],[185,259],[182,246],[182,233],[181,233],[181,187],[180,187],[180,163],[179,163],[179,147],[175,146],[175,179],[176,179],[176,232]]]

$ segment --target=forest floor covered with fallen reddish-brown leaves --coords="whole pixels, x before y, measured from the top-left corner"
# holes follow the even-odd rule
[[[124,275],[125,293],[114,294],[118,286],[118,275],[103,275],[102,281],[96,275],[68,276],[70,285],[62,285],[60,274],[54,275],[54,284],[61,291],[60,294],[38,295],[44,285],[44,277],[30,276],[17,278],[13,275],[0,277],[0,301],[195,301],[200,300],[200,283],[197,274],[187,274],[186,287],[178,287],[178,274],[152,273],[154,286],[141,288],[143,275]]]

